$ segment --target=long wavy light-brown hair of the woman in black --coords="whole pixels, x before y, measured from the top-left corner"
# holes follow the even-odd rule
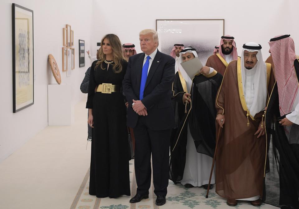
[[[105,70],[105,68],[103,68],[103,62],[106,59],[106,55],[103,53],[103,41],[104,39],[108,39],[109,40],[109,44],[112,48],[112,54],[113,54],[113,61],[114,61],[114,65],[113,65],[113,72],[114,73],[120,73],[122,71],[122,65],[121,65],[121,61],[124,60],[124,54],[122,52],[122,45],[121,45],[121,41],[119,40],[118,36],[115,34],[107,34],[105,35],[102,40],[101,40],[101,48],[99,49],[99,54],[98,54],[98,61],[96,63],[96,67],[95,69],[97,69],[98,66],[101,67],[102,70]],[[117,69],[117,70],[116,70]]]

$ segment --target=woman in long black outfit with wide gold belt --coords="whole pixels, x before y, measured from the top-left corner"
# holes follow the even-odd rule
[[[114,34],[103,37],[99,50],[99,59],[90,70],[86,103],[88,124],[93,128],[89,194],[102,198],[130,196],[126,109],[121,88],[127,61]]]

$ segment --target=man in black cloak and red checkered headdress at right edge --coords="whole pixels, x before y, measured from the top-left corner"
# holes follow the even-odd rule
[[[265,202],[299,208],[299,60],[290,35],[270,39],[276,84],[266,112],[266,131],[272,135]],[[267,195],[270,194],[270,195]]]

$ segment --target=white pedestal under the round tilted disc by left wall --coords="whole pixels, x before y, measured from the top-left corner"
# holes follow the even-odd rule
[[[48,85],[48,125],[69,126],[74,123],[72,89],[68,85]]]

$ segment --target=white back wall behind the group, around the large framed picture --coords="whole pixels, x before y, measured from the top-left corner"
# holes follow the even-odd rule
[[[92,43],[100,42],[102,36],[107,33],[115,33],[122,43],[135,44],[137,53],[140,53],[138,34],[140,30],[146,28],[155,29],[156,19],[224,19],[225,35],[235,37],[239,56],[242,45],[254,41],[262,45],[263,59],[266,60],[269,56],[269,39],[281,34],[291,34],[299,54],[299,27],[297,27],[299,1],[115,0],[110,2],[113,2],[109,3],[113,4],[113,9],[108,9],[100,0],[93,1]],[[208,34],[209,31],[202,33]],[[94,54],[97,46],[93,44],[92,47]]]

